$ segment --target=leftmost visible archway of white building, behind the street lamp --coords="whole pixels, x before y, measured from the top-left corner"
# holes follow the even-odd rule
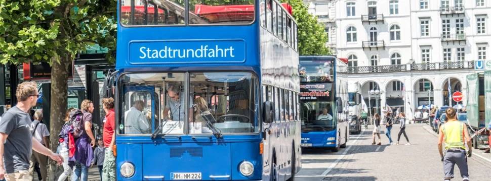
[[[378,90],[379,94],[371,94],[371,90],[374,90],[374,92]],[[384,90],[381,89],[380,85],[375,81],[365,82],[361,85],[361,95],[363,95],[366,106],[370,107],[369,114],[373,115],[376,112],[380,112],[380,100],[382,99],[381,96],[383,91]]]

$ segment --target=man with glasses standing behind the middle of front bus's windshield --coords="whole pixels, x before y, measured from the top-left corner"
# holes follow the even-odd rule
[[[178,121],[184,121],[184,99],[180,99],[180,86],[178,84],[170,85],[167,88],[169,98],[167,99],[166,108],[163,109],[163,117],[167,117],[169,111],[171,111],[172,119],[178,119]],[[193,117],[193,100],[189,98],[189,122],[192,122]],[[173,121],[169,118],[169,121]]]

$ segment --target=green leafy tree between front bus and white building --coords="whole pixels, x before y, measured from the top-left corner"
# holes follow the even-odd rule
[[[331,51],[325,46],[328,36],[324,26],[319,24],[317,17],[308,12],[302,0],[280,0],[292,6],[293,18],[298,24],[298,49],[300,55],[329,55]]]

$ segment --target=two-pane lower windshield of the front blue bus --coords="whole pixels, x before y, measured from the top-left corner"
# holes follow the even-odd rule
[[[257,84],[251,73],[121,75],[119,133],[151,134],[159,126],[165,135],[258,133]]]

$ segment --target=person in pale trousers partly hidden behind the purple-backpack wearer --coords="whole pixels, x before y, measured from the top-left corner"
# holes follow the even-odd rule
[[[71,167],[68,166],[68,159],[70,158],[68,155],[68,134],[70,133],[71,127],[68,125],[68,120],[70,120],[70,112],[75,110],[74,108],[69,108],[65,113],[65,125],[60,133],[60,146],[59,146],[59,154],[63,157],[63,173],[61,173],[60,177],[58,177],[58,181],[64,181],[68,175],[70,175]]]

